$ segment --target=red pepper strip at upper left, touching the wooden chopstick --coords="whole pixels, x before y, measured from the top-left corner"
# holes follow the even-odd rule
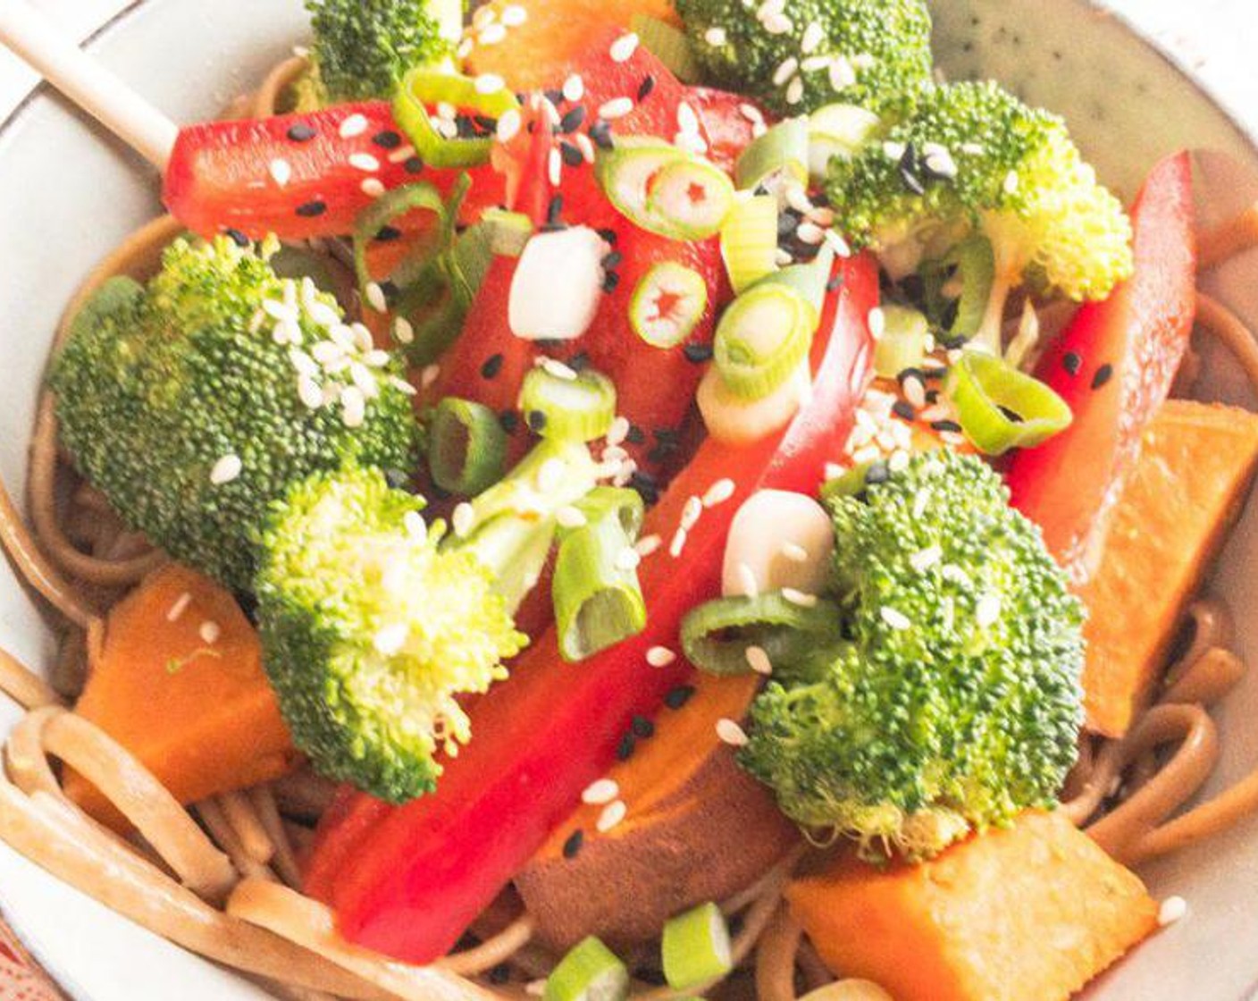
[[[385,189],[426,180],[443,194],[458,179],[459,171],[390,159],[404,142],[382,101],[337,105],[311,115],[192,125],[180,130],[175,141],[162,201],[203,237],[228,229],[250,239],[268,233],[284,240],[345,234],[375,198],[362,188],[369,179]],[[355,155],[371,157],[377,169],[355,166],[350,162]],[[279,175],[283,184],[276,176],[277,164],[287,167],[278,167],[286,171]],[[361,164],[370,166],[365,159]],[[506,200],[507,181],[488,166],[470,174],[464,215],[476,219]]]

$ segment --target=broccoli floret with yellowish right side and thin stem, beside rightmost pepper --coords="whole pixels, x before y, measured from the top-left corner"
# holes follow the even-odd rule
[[[1131,274],[1131,222],[1066,123],[990,81],[928,91],[911,118],[830,160],[828,194],[853,244],[893,273],[986,237],[995,273],[976,340],[994,350],[1011,287],[1096,300]]]

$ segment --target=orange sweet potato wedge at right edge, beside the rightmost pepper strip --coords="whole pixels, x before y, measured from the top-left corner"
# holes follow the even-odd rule
[[[1150,701],[1185,606],[1201,585],[1258,468],[1258,416],[1190,400],[1144,436],[1088,606],[1088,725],[1121,737]]]

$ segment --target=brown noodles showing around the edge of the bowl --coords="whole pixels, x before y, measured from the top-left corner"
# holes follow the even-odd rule
[[[233,111],[274,113],[306,65],[302,57],[281,63]],[[164,217],[111,253],[67,307],[53,351],[102,282],[114,274],[151,276],[162,248],[180,232],[175,219]],[[1213,266],[1253,246],[1258,246],[1258,206],[1205,234],[1201,259]],[[1229,349],[1258,388],[1258,345],[1250,332],[1205,295],[1199,307],[1200,326]],[[67,494],[69,500],[60,502]],[[102,611],[161,565],[165,555],[127,533],[103,497],[63,465],[54,400],[47,392],[31,444],[29,501],[30,529],[0,485],[0,544],[23,578],[69,623],[55,677],[58,689],[74,694],[99,648]],[[1084,737],[1063,797],[1067,816],[1127,862],[1176,851],[1258,811],[1254,772],[1208,803],[1179,813],[1219,757],[1206,709],[1244,674],[1244,664],[1230,651],[1234,637],[1227,608],[1198,601],[1189,618],[1193,641],[1167,669],[1157,704],[1121,740]],[[3,650],[0,690],[29,710],[5,743],[0,839],[185,948],[304,1001],[518,996],[523,981],[545,977],[555,966],[556,957],[532,942],[532,918],[509,913],[518,912],[518,904],[504,902],[473,925],[478,944],[429,967],[359,948],[337,934],[326,907],[299,893],[297,854],[311,837],[309,825],[331,802],[330,783],[301,771],[186,810],[125,748],[68,710],[52,687]],[[135,826],[132,840],[70,803],[53,761],[88,778]],[[722,905],[727,917],[741,919],[732,944],[735,966],[754,966],[757,992],[766,1001],[793,1001],[798,983],[815,988],[833,980],[782,902],[803,851]],[[511,973],[508,986],[472,980],[503,966]],[[678,992],[635,982],[634,996],[667,1001]]]

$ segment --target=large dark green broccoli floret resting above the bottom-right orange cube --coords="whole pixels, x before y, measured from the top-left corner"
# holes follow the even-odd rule
[[[830,509],[845,638],[775,665],[743,767],[866,857],[930,857],[1052,806],[1083,719],[1083,612],[1039,529],[951,452]]]

